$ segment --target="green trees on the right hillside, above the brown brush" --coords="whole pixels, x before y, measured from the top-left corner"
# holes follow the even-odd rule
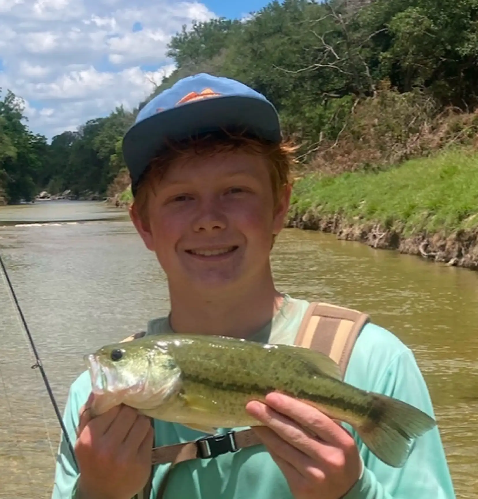
[[[178,69],[154,94],[199,71],[237,78],[267,95],[306,150],[335,140],[384,79],[475,106],[477,16],[478,0],[271,1],[243,22],[183,27],[169,45]]]

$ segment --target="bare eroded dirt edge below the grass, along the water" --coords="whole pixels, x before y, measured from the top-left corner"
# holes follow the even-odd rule
[[[404,237],[400,227],[387,230],[377,223],[359,220],[351,223],[340,215],[320,216],[312,211],[292,214],[287,227],[328,232],[336,234],[338,239],[359,241],[373,248],[397,250],[437,263],[478,270],[478,229]]]

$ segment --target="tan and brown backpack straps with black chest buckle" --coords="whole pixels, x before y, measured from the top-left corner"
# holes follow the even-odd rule
[[[312,302],[299,326],[294,345],[328,355],[339,365],[342,375],[345,375],[355,341],[369,321],[370,316],[358,310],[330,303]],[[138,333],[124,341],[142,336],[144,333]],[[151,474],[146,487],[137,498],[149,499],[155,465],[171,463],[156,496],[156,499],[162,499],[171,471],[178,463],[192,459],[214,458],[227,452],[236,452],[239,449],[261,444],[262,442],[255,433],[248,429],[229,432],[225,435],[211,435],[180,444],[154,447]]]

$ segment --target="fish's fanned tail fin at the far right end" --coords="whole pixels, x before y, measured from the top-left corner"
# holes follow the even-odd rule
[[[401,468],[407,461],[413,439],[432,430],[436,421],[405,402],[373,394],[369,415],[376,415],[357,428],[363,443],[385,464]]]

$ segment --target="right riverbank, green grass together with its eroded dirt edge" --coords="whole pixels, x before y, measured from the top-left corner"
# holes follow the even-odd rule
[[[305,176],[294,185],[287,225],[478,270],[478,154]]]

